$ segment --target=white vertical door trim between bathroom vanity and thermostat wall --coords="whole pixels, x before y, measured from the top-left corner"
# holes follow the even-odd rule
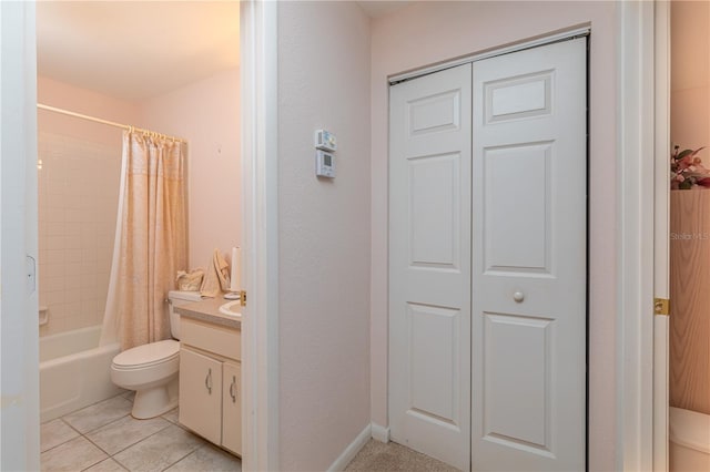
[[[278,470],[277,3],[241,2],[243,469]]]

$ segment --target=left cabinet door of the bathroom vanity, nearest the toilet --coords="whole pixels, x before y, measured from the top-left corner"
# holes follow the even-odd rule
[[[222,440],[222,362],[180,350],[180,422],[206,440]]]

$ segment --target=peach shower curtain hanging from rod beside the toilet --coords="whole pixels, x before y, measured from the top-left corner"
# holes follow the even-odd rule
[[[165,309],[187,268],[186,145],[123,132],[121,196],[101,345],[121,350],[170,338]]]

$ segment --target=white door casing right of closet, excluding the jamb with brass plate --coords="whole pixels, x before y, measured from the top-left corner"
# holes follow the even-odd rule
[[[618,470],[652,468],[653,3],[618,4]]]

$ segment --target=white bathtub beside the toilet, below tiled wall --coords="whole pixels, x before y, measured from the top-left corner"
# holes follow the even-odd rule
[[[124,391],[111,382],[119,345],[99,347],[101,326],[40,338],[40,421],[105,400]]]

